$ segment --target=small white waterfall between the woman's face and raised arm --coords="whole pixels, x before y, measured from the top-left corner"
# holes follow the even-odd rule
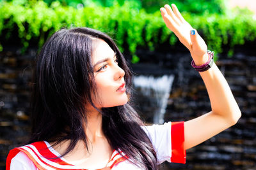
[[[143,113],[147,108],[152,108],[147,112],[153,113],[144,114],[152,115],[154,124],[164,123],[164,113],[172,89],[173,79],[173,75],[164,75],[161,77],[134,76],[136,97],[139,97],[139,103],[144,105],[140,106],[140,108],[142,108],[141,112]],[[145,108],[145,110],[143,110],[143,108]]]

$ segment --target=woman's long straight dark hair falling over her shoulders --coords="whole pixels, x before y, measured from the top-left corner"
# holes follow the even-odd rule
[[[31,97],[31,138],[35,141],[70,140],[63,155],[74,149],[79,140],[88,146],[84,132],[86,103],[97,92],[91,61],[93,39],[106,41],[116,52],[118,65],[125,71],[127,96],[131,96],[132,74],[113,39],[103,32],[77,27],[60,29],[49,38],[36,60]],[[102,108],[102,129],[109,145],[122,150],[132,162],[145,169],[157,169],[156,152],[144,125],[131,104]],[[88,148],[87,148],[88,150]],[[62,156],[63,156],[62,155]]]

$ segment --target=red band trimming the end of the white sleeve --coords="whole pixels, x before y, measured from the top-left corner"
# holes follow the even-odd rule
[[[186,164],[186,150],[184,148],[184,122],[172,122],[171,135],[171,162]]]

